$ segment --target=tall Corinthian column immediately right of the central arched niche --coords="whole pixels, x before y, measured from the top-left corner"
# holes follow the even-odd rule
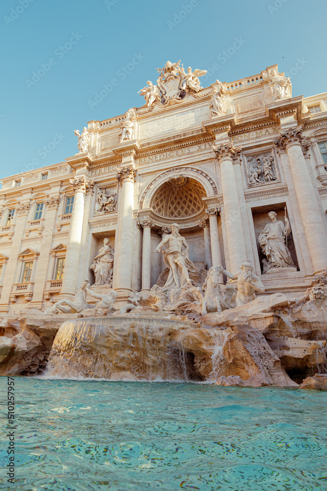
[[[234,173],[234,163],[238,162],[237,157],[241,152],[241,147],[235,149],[233,143],[227,143],[213,146],[213,150],[220,165],[229,265],[230,270],[236,272],[246,261],[241,207]],[[217,223],[217,218],[214,218]],[[210,230],[212,223],[215,227],[213,219],[210,221]]]

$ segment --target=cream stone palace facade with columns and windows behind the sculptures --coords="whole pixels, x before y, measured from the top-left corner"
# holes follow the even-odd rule
[[[72,300],[85,278],[98,295],[88,303],[111,281],[121,304],[146,294],[172,223],[191,264],[235,275],[250,263],[268,294],[300,295],[325,269],[327,93],[292,97],[277,66],[205,88],[203,70],[159,72],[140,91],[144,106],[76,131],[65,163],[2,180],[1,312]],[[270,212],[284,238],[265,242]]]

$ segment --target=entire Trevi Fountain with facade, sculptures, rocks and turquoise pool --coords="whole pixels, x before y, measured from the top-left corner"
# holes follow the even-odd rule
[[[130,469],[124,490],[176,482],[240,490],[251,475],[253,490],[277,489],[273,482],[326,489],[323,471],[304,467],[301,481],[270,452],[279,441],[286,467],[301,452],[301,462],[313,452],[322,467],[310,400],[320,407],[327,388],[327,94],[293,97],[277,65],[205,88],[205,70],[180,61],[157,70],[157,83],[139,91],[143,106],[75,130],[78,152],[66,164],[2,181],[0,374],[17,391],[27,380],[22,414],[41,405],[45,435],[68,425],[64,448],[83,455],[85,470],[76,465],[85,482],[90,466],[99,475],[109,466],[110,487],[102,477],[99,487],[76,489],[123,489],[120,469]],[[64,396],[50,408],[53,387]],[[302,434],[280,412],[299,398]],[[151,423],[171,400],[175,413]],[[109,417],[110,408],[119,414]],[[80,413],[85,437],[82,427],[79,437],[69,429]],[[119,431],[125,439],[94,447],[97,416],[110,438]],[[22,425],[33,440],[36,423]],[[216,439],[206,447],[210,432]],[[154,449],[160,435],[166,448]],[[44,458],[54,465],[47,438],[22,457],[27,467]],[[235,471],[221,464],[233,452]],[[174,459],[187,468],[184,480]],[[197,460],[202,470],[192,473]],[[132,486],[136,461],[149,473],[144,488]],[[220,487],[210,484],[215,466]]]

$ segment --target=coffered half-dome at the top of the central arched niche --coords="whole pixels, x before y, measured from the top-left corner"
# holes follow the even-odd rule
[[[202,198],[206,195],[201,183],[180,174],[170,177],[158,188],[150,206],[161,217],[183,219],[204,210]]]

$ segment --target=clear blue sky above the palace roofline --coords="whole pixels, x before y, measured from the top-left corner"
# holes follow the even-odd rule
[[[142,106],[137,91],[168,59],[214,65],[204,86],[278,63],[297,71],[294,96],[325,92],[326,19],[326,0],[2,1],[0,178],[74,155],[74,130]],[[44,76],[32,79],[40,69]],[[110,94],[92,104],[113,79]],[[55,148],[42,151],[54,138]]]

